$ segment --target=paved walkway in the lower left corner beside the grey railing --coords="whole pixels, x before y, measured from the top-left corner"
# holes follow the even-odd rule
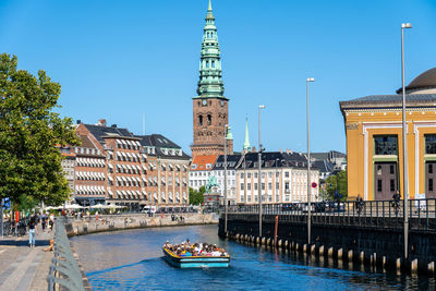
[[[53,257],[43,250],[53,233],[38,226],[36,245],[28,247],[28,235],[0,238],[0,290],[48,290],[47,276]]]

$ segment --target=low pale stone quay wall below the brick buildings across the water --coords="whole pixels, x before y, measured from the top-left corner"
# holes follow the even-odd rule
[[[74,237],[128,229],[218,225],[216,214],[178,214],[175,216],[182,216],[183,220],[173,221],[171,215],[155,215],[154,217],[146,214],[86,216],[78,219],[69,218],[65,229],[69,237]]]

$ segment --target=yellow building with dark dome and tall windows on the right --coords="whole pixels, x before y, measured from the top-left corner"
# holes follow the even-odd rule
[[[414,78],[407,93],[410,198],[436,197],[436,68]],[[346,123],[348,197],[391,199],[403,193],[402,90],[341,101]],[[421,196],[421,195],[420,195]]]

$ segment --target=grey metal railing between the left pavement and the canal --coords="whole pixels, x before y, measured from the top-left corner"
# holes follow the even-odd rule
[[[55,223],[55,256],[47,278],[48,290],[59,290],[57,284],[68,290],[85,290],[82,271],[74,258],[66,237],[63,218],[57,218]]]

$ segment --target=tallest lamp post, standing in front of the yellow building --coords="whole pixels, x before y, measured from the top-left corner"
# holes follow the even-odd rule
[[[404,259],[408,259],[409,244],[409,177],[408,177],[408,144],[405,123],[405,84],[404,84],[404,28],[412,28],[411,23],[401,23],[401,78],[402,78],[402,172],[404,198]]]

